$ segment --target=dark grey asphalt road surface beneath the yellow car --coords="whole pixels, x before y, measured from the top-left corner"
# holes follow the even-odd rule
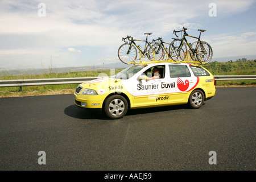
[[[254,171],[255,94],[217,88],[200,109],[137,109],[118,120],[80,109],[73,94],[0,98],[0,170]]]

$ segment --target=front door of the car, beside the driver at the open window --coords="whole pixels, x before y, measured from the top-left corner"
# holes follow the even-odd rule
[[[153,80],[141,79],[139,77],[146,75],[147,77],[153,76],[152,69],[159,68],[160,78]],[[146,71],[142,72],[139,77],[134,81],[134,105],[135,106],[149,106],[149,105],[164,105],[168,100],[168,88],[162,88],[161,84],[168,82],[166,77],[166,65],[160,64],[148,67]]]

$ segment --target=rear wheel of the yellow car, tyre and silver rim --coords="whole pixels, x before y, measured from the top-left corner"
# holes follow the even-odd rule
[[[188,99],[188,104],[193,109],[199,109],[204,104],[205,96],[201,90],[193,90]]]

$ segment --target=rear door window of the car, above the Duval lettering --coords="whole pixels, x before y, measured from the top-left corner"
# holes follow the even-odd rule
[[[187,65],[169,65],[169,70],[171,78],[191,76]]]

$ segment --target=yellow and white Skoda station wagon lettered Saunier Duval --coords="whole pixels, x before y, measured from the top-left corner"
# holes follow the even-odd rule
[[[74,94],[77,106],[118,119],[129,109],[180,104],[197,109],[215,90],[212,73],[201,65],[154,61],[84,82]]]

